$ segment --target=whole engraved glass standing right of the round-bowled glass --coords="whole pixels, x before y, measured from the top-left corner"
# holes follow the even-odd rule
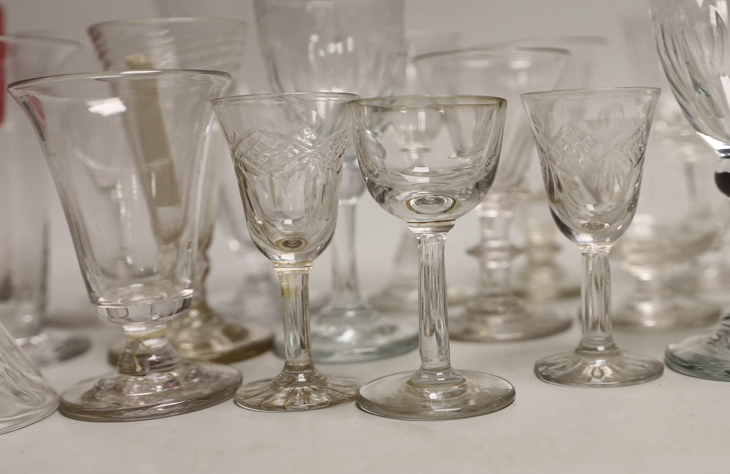
[[[580,387],[653,381],[664,364],[619,351],[611,335],[608,253],[639,199],[644,152],[658,88],[572,89],[522,96],[558,229],[583,254],[581,320],[575,351],[535,363],[543,381]]]

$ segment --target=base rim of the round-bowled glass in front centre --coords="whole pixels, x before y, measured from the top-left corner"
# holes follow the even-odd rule
[[[388,390],[388,394],[382,396],[388,400],[392,400],[393,397],[396,397],[401,400],[401,403],[402,401],[406,401],[405,404],[401,404],[401,407],[403,405],[410,405],[409,408],[411,413],[404,413],[404,411],[409,410],[409,408],[396,408],[393,404],[387,405],[385,403],[376,402],[372,400],[374,395],[367,393],[369,390],[377,389],[378,386],[390,386],[393,389],[398,390],[400,386],[405,385],[404,381],[412,377],[413,371],[410,370],[407,372],[397,372],[391,375],[385,375],[384,377],[376,378],[375,380],[366,383],[358,392],[358,408],[367,413],[371,413],[372,415],[383,416],[385,418],[407,421],[439,421],[487,415],[488,413],[494,413],[507,408],[515,401],[515,387],[504,378],[485,372],[478,372],[476,370],[458,370],[458,372],[466,378],[467,383],[472,383],[472,386],[475,386],[475,381],[477,381],[485,384],[485,386],[491,386],[493,389],[501,389],[504,393],[500,396],[495,395],[490,397],[488,395],[483,395],[480,397],[479,391],[477,391],[477,393],[467,391],[466,394],[448,399],[460,402],[460,407],[452,408],[434,408],[434,405],[437,405],[437,402],[445,399],[432,400],[426,397],[406,398],[408,396],[404,394],[393,395],[394,390]],[[479,402],[480,398],[483,399],[481,404],[475,403]],[[429,400],[431,403],[426,403],[426,401]],[[429,407],[427,405],[431,406]],[[465,407],[469,408],[469,410],[463,410]]]

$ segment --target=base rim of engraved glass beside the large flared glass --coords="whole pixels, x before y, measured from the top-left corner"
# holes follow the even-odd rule
[[[322,410],[324,408],[335,408],[339,407],[341,405],[347,405],[347,403],[354,402],[358,390],[362,386],[362,382],[359,381],[356,378],[352,377],[345,377],[342,375],[326,375],[325,379],[321,381],[320,383],[312,384],[312,385],[306,385],[306,386],[285,386],[285,385],[276,385],[272,383],[273,379],[271,378],[265,378],[258,381],[253,381],[246,383],[245,385],[241,386],[236,391],[234,401],[236,402],[236,405],[238,405],[241,408],[245,408],[246,410],[253,410],[253,411],[265,411],[265,412],[274,412],[274,413],[295,413],[295,412],[302,412],[302,411],[311,411],[311,410]],[[338,392],[334,389],[334,387],[337,388],[345,388],[345,391],[350,391],[351,393],[342,393]],[[252,390],[252,389],[268,389],[271,395],[266,398],[266,400],[270,400],[272,397],[275,397],[277,394],[283,394],[286,391],[290,390],[296,390],[299,389],[299,392],[302,391],[309,391],[310,394],[317,394],[320,396],[324,395],[321,393],[321,389],[325,389],[326,391],[331,391],[337,393],[335,395],[334,400],[323,400],[318,403],[310,403],[309,405],[291,405],[287,407],[286,405],[268,405],[268,408],[265,406],[262,406],[261,403],[251,403],[247,402],[247,400],[258,398],[258,394],[252,397],[245,397],[245,391]],[[291,399],[291,391],[287,395],[287,400]],[[261,392],[264,393],[264,392]],[[266,401],[264,400],[264,401]]]

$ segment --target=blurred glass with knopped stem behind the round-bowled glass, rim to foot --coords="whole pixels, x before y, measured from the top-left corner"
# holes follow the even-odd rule
[[[432,53],[414,58],[429,93],[475,93],[519,104],[520,93],[550,89],[569,58],[566,50],[493,47]],[[510,269],[518,253],[509,240],[515,206],[525,198],[523,180],[534,142],[518,107],[507,112],[504,150],[494,185],[477,206],[481,242],[469,252],[480,260],[477,294],[451,323],[456,340],[522,340],[561,332],[571,320],[549,308],[528,307],[512,291]]]

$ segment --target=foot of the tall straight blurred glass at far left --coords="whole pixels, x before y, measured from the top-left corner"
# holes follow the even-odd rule
[[[47,327],[37,335],[16,339],[15,343],[20,345],[38,366],[71,359],[91,347],[88,337]]]

